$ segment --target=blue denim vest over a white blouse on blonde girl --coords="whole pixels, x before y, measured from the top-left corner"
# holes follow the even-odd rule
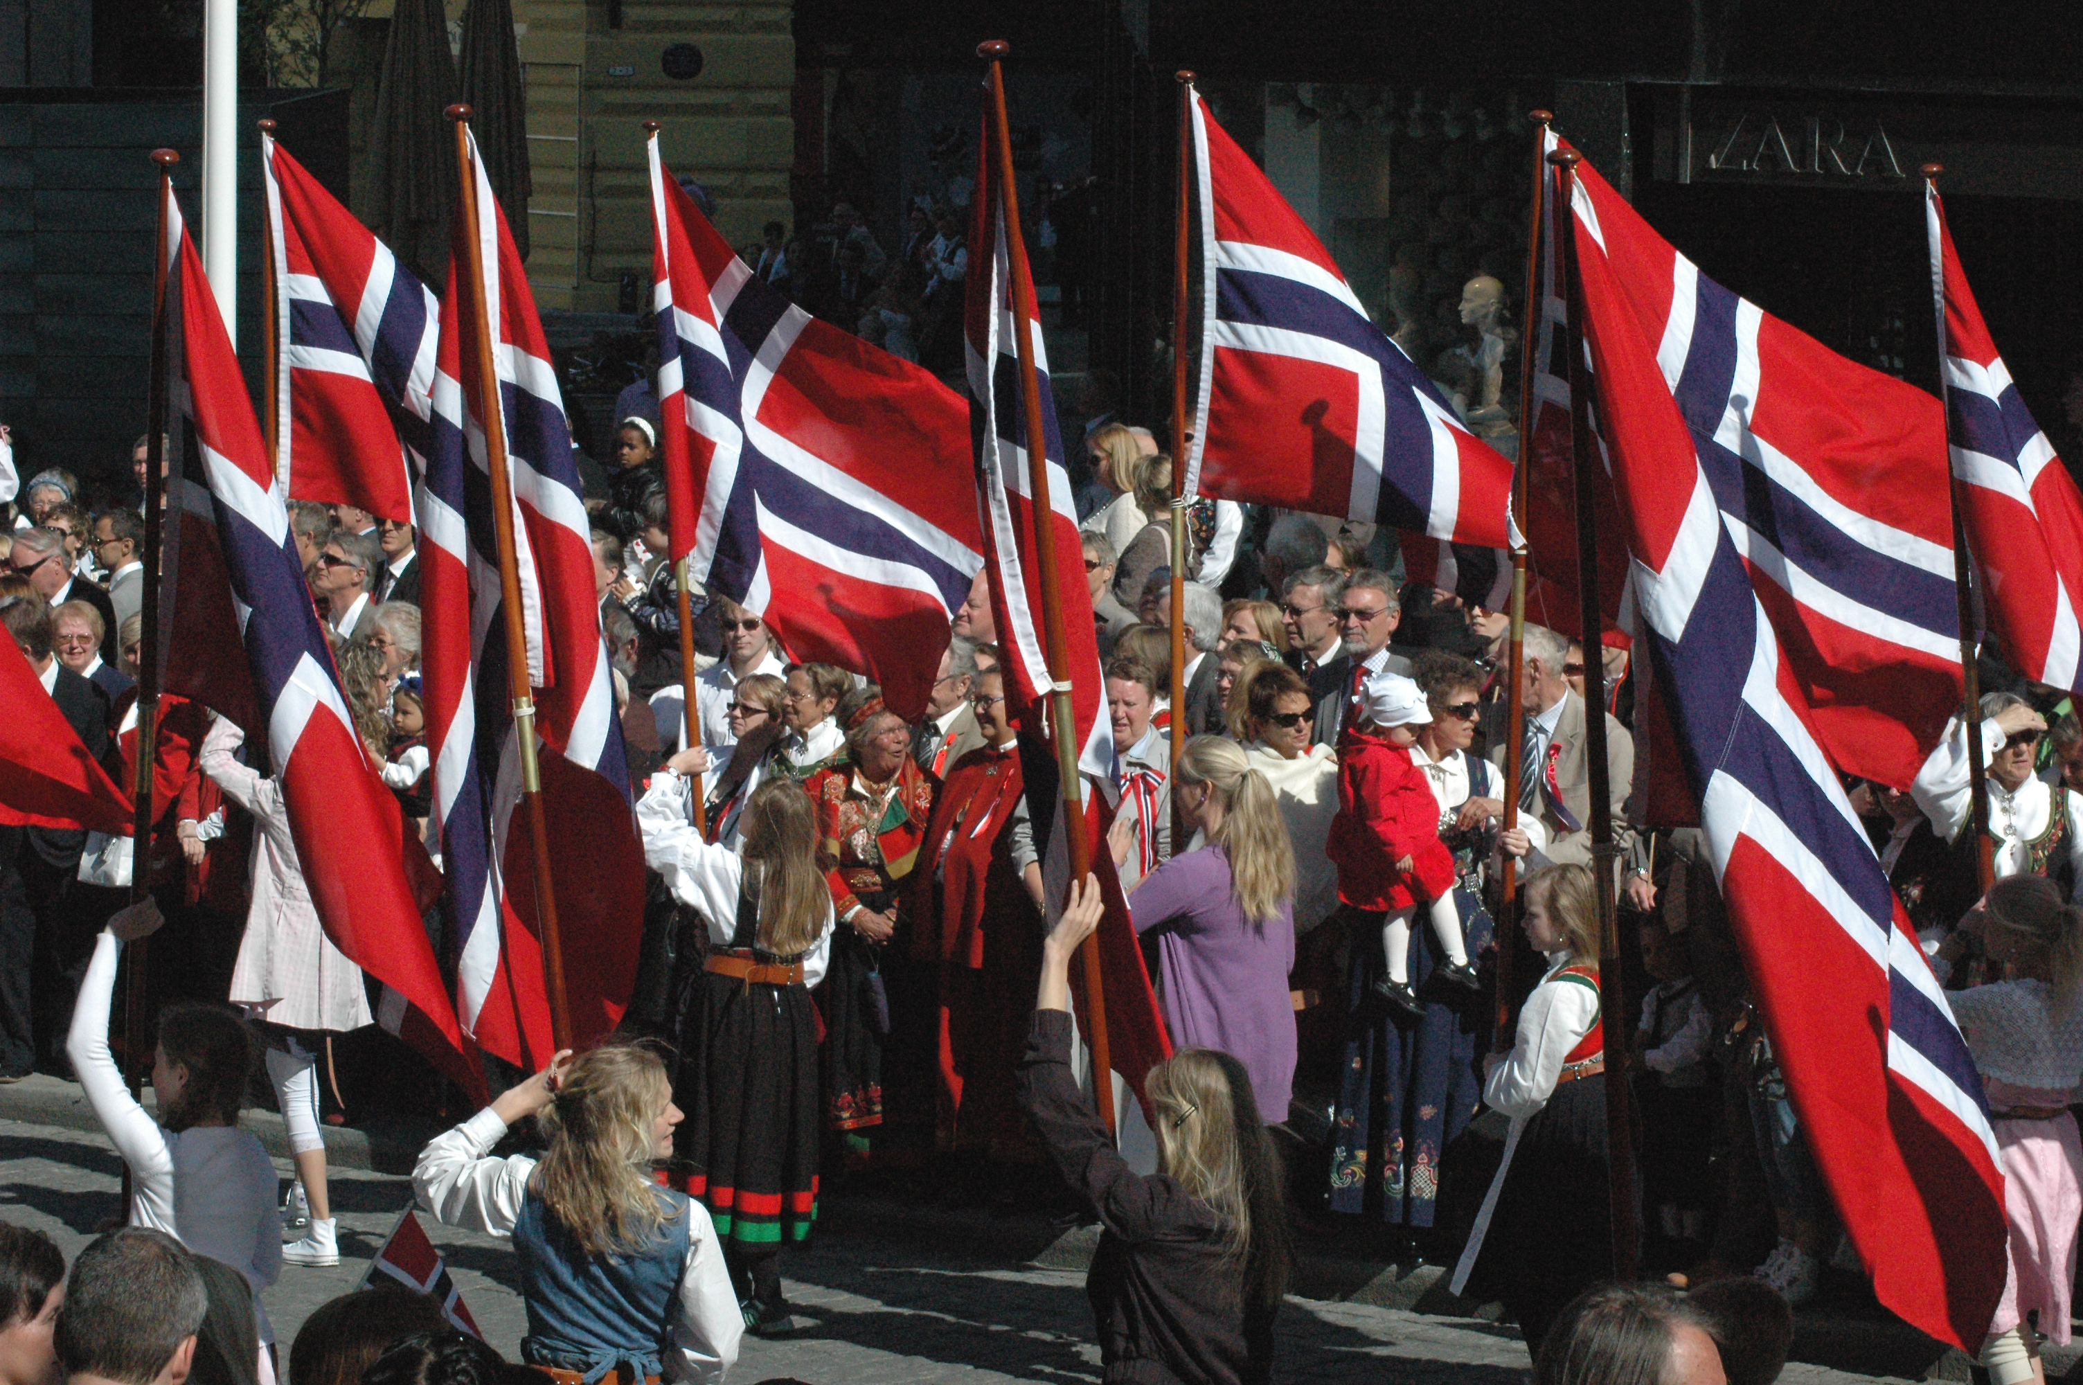
[[[667,1212],[650,1250],[583,1256],[548,1220],[531,1187],[515,1223],[521,1256],[521,1298],[527,1302],[527,1337],[521,1360],[531,1366],[579,1370],[587,1385],[629,1362],[637,1379],[658,1375],[658,1343],[667,1337],[694,1218],[687,1198],[652,1189]]]

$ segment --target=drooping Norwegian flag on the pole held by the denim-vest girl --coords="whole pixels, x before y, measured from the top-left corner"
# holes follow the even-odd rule
[[[483,302],[492,317],[506,458],[515,498],[529,685],[546,754],[542,798],[556,843],[552,879],[573,1043],[606,1035],[635,981],[644,852],[594,598],[592,525],[579,496],[564,404],[521,254],[477,162]],[[521,1066],[554,1050],[537,935],[533,848],[521,806],[521,750],[500,637],[498,537],[477,310],[462,279],[469,227],[458,212],[442,296],[433,423],[421,479],[421,666],[433,804],[456,910],[456,1002],[471,1037]],[[404,273],[404,271],[398,271]]]

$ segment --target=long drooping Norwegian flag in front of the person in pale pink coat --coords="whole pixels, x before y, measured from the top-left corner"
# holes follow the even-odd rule
[[[181,404],[160,546],[162,687],[267,744],[327,937],[387,987],[387,1027],[481,1091],[408,877],[404,854],[419,848],[354,733],[283,487],[171,192],[162,252],[167,381]]]

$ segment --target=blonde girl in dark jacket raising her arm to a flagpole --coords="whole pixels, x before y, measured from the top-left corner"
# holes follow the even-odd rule
[[[1071,1073],[1071,954],[1100,925],[1096,879],[1042,943],[1021,1102],[1100,1218],[1085,1295],[1108,1381],[1266,1381],[1294,1233],[1281,1160],[1229,1054],[1189,1048],[1150,1068],[1158,1173],[1121,1160]],[[1266,931],[1273,923],[1266,921]]]

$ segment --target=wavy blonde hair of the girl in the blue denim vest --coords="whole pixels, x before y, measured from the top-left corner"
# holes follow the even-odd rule
[[[614,1043],[573,1058],[535,1116],[550,1143],[535,1189],[583,1254],[642,1252],[658,1237],[667,1206],[650,1179],[652,1123],[671,1098],[658,1054]]]

